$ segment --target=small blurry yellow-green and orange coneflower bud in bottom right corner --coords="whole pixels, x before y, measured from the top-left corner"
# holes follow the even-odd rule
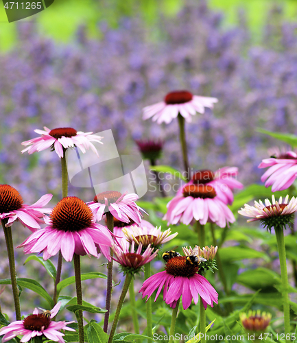
[[[250,332],[265,331],[270,323],[271,317],[271,314],[267,314],[266,312],[261,313],[260,310],[250,310],[248,314],[239,314],[244,329]]]

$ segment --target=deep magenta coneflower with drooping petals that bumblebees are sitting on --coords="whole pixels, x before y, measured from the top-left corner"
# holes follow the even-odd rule
[[[178,299],[182,296],[182,307],[187,309],[192,300],[198,303],[201,296],[204,308],[207,305],[213,307],[217,303],[218,294],[204,276],[197,274],[199,266],[186,263],[186,256],[178,256],[169,259],[165,265],[165,271],[150,276],[143,283],[139,293],[143,298],[150,298],[158,289],[155,297],[158,298],[164,286],[163,299],[170,307],[175,308]]]

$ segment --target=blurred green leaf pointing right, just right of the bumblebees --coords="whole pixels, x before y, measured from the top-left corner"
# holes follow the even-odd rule
[[[220,248],[219,255],[223,261],[240,261],[241,259],[264,259],[269,261],[264,252],[242,246],[229,246]]]

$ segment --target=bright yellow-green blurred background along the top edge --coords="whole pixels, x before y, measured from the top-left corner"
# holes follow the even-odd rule
[[[245,10],[248,26],[252,29],[254,40],[257,41],[261,27],[272,5],[281,5],[285,18],[296,21],[296,0],[209,0],[211,8],[222,10],[226,21],[225,25],[233,25],[238,21],[238,11]],[[115,27],[122,16],[141,14],[143,25],[147,29],[154,27],[155,21],[163,17],[175,16],[183,7],[183,0],[55,0],[47,10],[32,17],[17,22],[21,25],[25,21],[36,21],[40,33],[66,42],[73,38],[73,34],[80,25],[88,27],[89,36],[99,36],[97,23],[106,21]],[[7,23],[3,3],[0,3],[0,50],[7,51],[16,41],[16,23]]]

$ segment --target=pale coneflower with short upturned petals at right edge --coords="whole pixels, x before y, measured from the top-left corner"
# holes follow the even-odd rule
[[[260,220],[269,230],[272,227],[282,226],[285,227],[287,224],[291,224],[294,213],[297,211],[297,198],[292,198],[289,201],[289,196],[279,198],[278,202],[275,197],[272,196],[272,203],[270,200],[265,199],[265,204],[261,200],[255,201],[254,206],[244,204],[244,209],[238,211],[239,214],[245,217],[251,217],[247,222],[254,222]]]

